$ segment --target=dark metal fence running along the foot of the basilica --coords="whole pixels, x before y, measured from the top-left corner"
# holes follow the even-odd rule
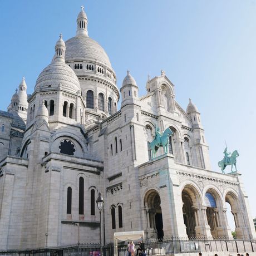
[[[136,247],[137,248],[137,247]],[[245,254],[256,252],[256,239],[181,239],[156,241],[145,240],[145,252],[149,256],[175,253],[227,252],[227,254]],[[136,253],[136,252],[135,252]],[[118,247],[119,256],[127,255],[127,245]],[[44,248],[35,250],[8,250],[0,256],[99,256],[100,244],[76,244],[66,247]],[[114,255],[112,244],[103,247],[104,256]]]

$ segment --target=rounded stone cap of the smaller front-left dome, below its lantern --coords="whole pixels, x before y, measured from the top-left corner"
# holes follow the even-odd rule
[[[35,91],[63,88],[72,93],[81,91],[75,72],[64,62],[53,62],[38,76]]]

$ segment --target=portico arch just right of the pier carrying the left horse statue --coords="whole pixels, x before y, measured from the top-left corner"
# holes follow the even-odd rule
[[[198,226],[199,216],[195,206],[201,204],[200,195],[192,185],[186,185],[181,193],[181,197],[186,234],[189,238],[196,237],[196,226]]]

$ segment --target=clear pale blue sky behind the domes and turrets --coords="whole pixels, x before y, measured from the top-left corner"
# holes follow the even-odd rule
[[[142,96],[147,75],[165,70],[179,104],[186,109],[191,97],[201,112],[212,169],[220,171],[224,140],[229,151],[239,151],[238,170],[256,216],[256,1],[0,1],[1,110],[22,76],[33,92],[58,35],[75,36],[82,4],[89,36],[105,48],[119,88],[129,68]]]

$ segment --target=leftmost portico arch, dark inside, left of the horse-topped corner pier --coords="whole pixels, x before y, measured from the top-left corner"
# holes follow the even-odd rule
[[[156,190],[150,190],[144,198],[144,205],[147,209],[147,232],[150,236],[159,240],[164,239],[163,216],[161,210],[161,199]]]

